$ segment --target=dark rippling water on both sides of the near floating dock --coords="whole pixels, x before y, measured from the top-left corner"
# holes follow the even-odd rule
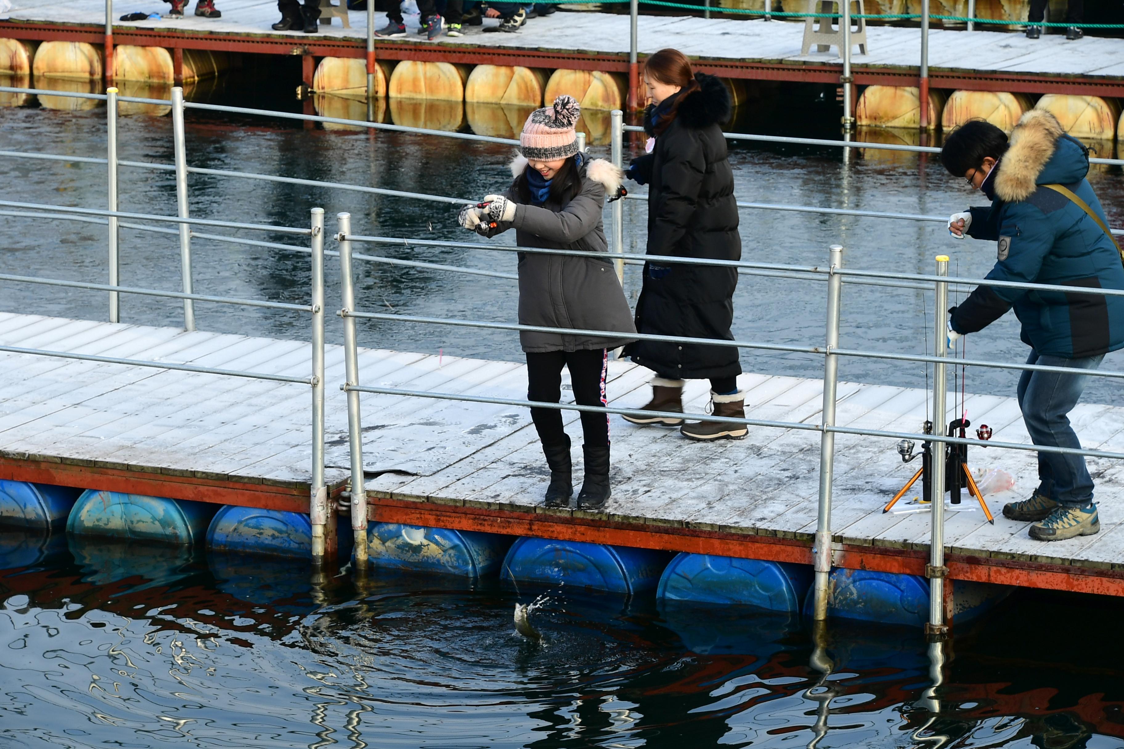
[[[225,103],[293,109],[280,83],[220,88]],[[815,92],[812,92],[813,94]],[[834,137],[839,111],[816,95],[760,102],[737,127]],[[288,94],[285,94],[288,95]],[[166,117],[124,117],[121,158],[172,162]],[[55,111],[33,100],[0,108],[0,148],[103,155],[105,110]],[[508,181],[506,146],[305,130],[284,120],[191,112],[193,166],[282,174],[479,198]],[[638,145],[634,144],[634,148]],[[595,153],[607,148],[595,146]],[[980,203],[914,155],[733,144],[742,200],[946,214]],[[1124,225],[1118,173],[1091,177],[1114,226]],[[166,172],[121,168],[123,210],[174,213]],[[474,240],[455,208],[218,176],[191,177],[192,216],[303,226],[324,207],[353,214],[356,232]],[[0,198],[102,207],[105,170],[0,157]],[[629,252],[644,249],[645,207],[626,210]],[[106,229],[0,216],[3,273],[106,280]],[[224,234],[215,230],[215,234]],[[229,232],[299,244],[282,234]],[[846,247],[851,267],[927,273],[933,256],[980,275],[994,246],[958,243],[942,225],[794,212],[742,212],[746,259],[819,265]],[[510,244],[504,237],[496,244]],[[194,241],[200,293],[307,302],[308,255]],[[333,244],[328,243],[328,248]],[[514,272],[510,253],[371,246],[393,258]],[[179,290],[174,237],[123,230],[124,284]],[[515,319],[510,281],[360,264],[368,310],[478,320]],[[338,304],[335,261],[328,305]],[[735,334],[810,345],[823,340],[822,283],[743,276]],[[635,270],[626,278],[632,299]],[[101,293],[0,283],[0,310],[105,319]],[[170,300],[124,296],[121,319],[180,325]],[[307,338],[306,321],[252,308],[197,308],[203,329]],[[847,286],[847,347],[927,353],[932,296]],[[329,317],[329,339],[341,331]],[[501,331],[371,323],[366,346],[518,359]],[[1021,359],[1004,319],[969,338],[969,355]],[[1120,368],[1120,355],[1106,367]],[[743,353],[749,371],[818,376],[810,357]],[[919,366],[843,363],[862,382],[924,385]],[[1015,375],[973,372],[970,392],[1014,393]],[[1118,402],[1094,382],[1086,401]],[[660,609],[555,592],[516,634],[514,603],[533,600],[492,582],[344,572],[314,579],[307,564],[192,556],[0,535],[0,746],[2,747],[1124,747],[1124,648],[1117,602],[1018,592],[982,621],[930,647],[915,630],[805,623],[752,611]],[[822,646],[816,650],[816,645]],[[821,673],[831,663],[830,675]],[[943,663],[943,665],[942,665]],[[939,684],[934,689],[934,685]]]

